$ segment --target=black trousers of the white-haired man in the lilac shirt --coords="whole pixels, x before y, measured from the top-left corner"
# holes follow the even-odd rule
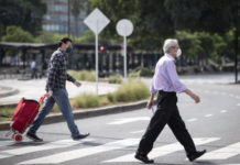
[[[179,143],[184,146],[187,155],[196,152],[194,141],[179,116],[176,102],[176,92],[159,91],[157,109],[140,141],[138,148],[139,153],[143,155],[149,154],[149,152],[153,148],[153,143],[166,124],[168,124],[177,141],[179,141]]]

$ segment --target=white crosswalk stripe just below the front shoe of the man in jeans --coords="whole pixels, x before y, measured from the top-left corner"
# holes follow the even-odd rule
[[[56,142],[50,142],[46,144],[37,145],[37,146],[32,145],[32,146],[18,147],[18,148],[12,148],[12,150],[1,151],[0,158],[7,158],[7,157],[17,156],[17,155],[39,152],[39,151],[68,147],[72,145],[76,145],[76,144],[80,144],[80,143],[89,142],[89,141],[94,141],[94,139],[86,139],[83,141],[61,140]]]

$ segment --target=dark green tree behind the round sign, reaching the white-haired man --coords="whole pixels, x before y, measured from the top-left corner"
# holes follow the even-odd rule
[[[120,19],[129,19],[134,25],[130,45],[138,50],[155,51],[161,48],[163,37],[174,34],[173,23],[165,11],[164,1],[159,0],[91,0],[94,8],[99,8],[111,20],[101,33],[107,38],[121,37],[116,33]]]

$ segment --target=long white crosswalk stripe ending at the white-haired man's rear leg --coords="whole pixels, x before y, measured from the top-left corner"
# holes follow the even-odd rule
[[[19,164],[59,164],[66,161],[76,160],[76,158],[89,156],[89,155],[97,154],[97,153],[128,147],[128,146],[137,144],[138,142],[139,142],[139,139],[124,139],[121,141],[110,142],[110,143],[99,145],[99,146],[73,150],[68,152],[54,154],[51,156],[30,160],[30,161],[21,162]]]

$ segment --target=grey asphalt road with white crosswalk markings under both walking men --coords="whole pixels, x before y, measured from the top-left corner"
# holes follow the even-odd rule
[[[240,88],[239,85],[188,82],[201,102],[195,105],[185,94],[178,95],[178,108],[198,150],[207,154],[195,163],[186,160],[183,147],[165,127],[150,157],[160,165],[240,165]],[[152,112],[146,109],[76,120],[81,132],[91,135],[72,141],[65,122],[43,125],[43,143],[26,138],[14,144],[0,132],[0,165],[137,165],[133,158],[140,138]]]

